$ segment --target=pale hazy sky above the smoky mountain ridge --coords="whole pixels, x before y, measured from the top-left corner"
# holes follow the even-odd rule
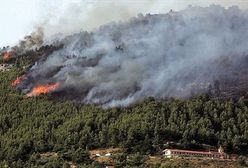
[[[1,0],[0,46],[15,44],[39,24],[45,25],[46,34],[70,33],[140,12],[166,13],[213,3],[248,8],[247,0]]]

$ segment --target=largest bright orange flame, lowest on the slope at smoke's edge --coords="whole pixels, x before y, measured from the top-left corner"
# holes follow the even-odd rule
[[[48,85],[39,85],[33,88],[33,90],[28,93],[27,97],[39,96],[41,94],[48,94],[54,90],[56,90],[60,86],[59,83],[48,84]]]

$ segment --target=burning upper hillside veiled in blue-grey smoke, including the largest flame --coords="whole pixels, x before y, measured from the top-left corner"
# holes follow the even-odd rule
[[[83,103],[114,106],[149,96],[219,95],[222,85],[248,81],[247,30],[248,12],[237,7],[139,15],[65,37],[61,49],[43,56],[13,85],[28,97],[59,87]]]

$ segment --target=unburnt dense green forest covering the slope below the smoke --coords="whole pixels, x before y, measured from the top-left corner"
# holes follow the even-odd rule
[[[115,108],[52,95],[24,98],[10,84],[29,63],[21,57],[10,71],[0,72],[0,167],[68,167],[65,161],[100,167],[89,158],[89,150],[119,147],[145,156],[160,153],[168,141],[181,148],[222,145],[229,153],[248,154],[248,102],[243,97],[237,101],[212,100],[208,95],[190,100],[147,98]],[[39,154],[45,152],[57,152],[59,157],[41,159]],[[139,162],[129,166],[143,164],[139,156]]]

